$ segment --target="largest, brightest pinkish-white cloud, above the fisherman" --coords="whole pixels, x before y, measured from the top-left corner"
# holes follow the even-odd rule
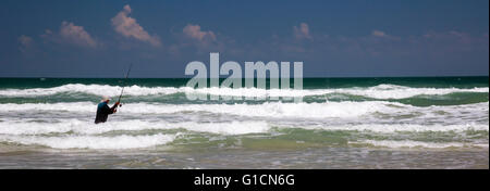
[[[158,36],[150,36],[135,18],[130,17],[132,9],[128,4],[124,5],[123,10],[111,18],[114,30],[126,38],[134,38],[140,41],[148,42],[155,47],[161,46]]]

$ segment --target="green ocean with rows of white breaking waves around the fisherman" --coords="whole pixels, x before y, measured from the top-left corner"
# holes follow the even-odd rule
[[[0,78],[0,168],[489,168],[488,77],[187,80]],[[94,124],[122,87],[122,107]]]

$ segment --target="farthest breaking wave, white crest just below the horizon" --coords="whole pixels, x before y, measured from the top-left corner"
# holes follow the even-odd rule
[[[1,97],[38,97],[56,93],[88,93],[94,96],[117,97],[122,87],[109,85],[82,85],[69,84],[53,88],[32,88],[32,89],[2,89]],[[124,88],[126,96],[167,96],[174,93],[204,93],[223,97],[308,97],[324,96],[331,93],[346,93],[353,96],[363,96],[373,99],[405,99],[415,96],[441,96],[455,92],[489,92],[489,88],[412,88],[397,85],[378,85],[368,88],[336,88],[336,89],[304,89],[304,90],[281,90],[281,89],[257,89],[257,88],[203,88],[193,89],[189,87],[140,87],[137,85]]]

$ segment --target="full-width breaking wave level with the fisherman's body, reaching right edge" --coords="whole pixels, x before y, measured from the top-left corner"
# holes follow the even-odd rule
[[[160,104],[127,103],[117,115],[176,114],[176,113],[212,113],[247,117],[287,117],[287,118],[355,118],[373,114],[402,116],[424,114],[429,117],[441,115],[475,116],[488,118],[489,102],[466,105],[417,107],[403,103],[385,101],[365,102],[324,102],[324,103],[282,103],[266,102],[261,104]],[[0,104],[0,112],[58,112],[58,113],[95,113],[97,105],[91,102],[75,103],[7,103]]]

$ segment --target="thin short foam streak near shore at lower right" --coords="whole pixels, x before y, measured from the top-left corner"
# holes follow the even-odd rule
[[[462,142],[421,142],[421,141],[411,141],[411,140],[401,140],[401,141],[392,141],[392,140],[364,140],[350,142],[350,144],[371,144],[373,147],[382,147],[382,148],[394,148],[394,149],[415,149],[415,148],[428,148],[428,149],[449,149],[449,148],[473,148],[478,147],[481,148],[481,144],[473,144],[473,143],[462,143]],[[488,147],[487,147],[488,148]]]

